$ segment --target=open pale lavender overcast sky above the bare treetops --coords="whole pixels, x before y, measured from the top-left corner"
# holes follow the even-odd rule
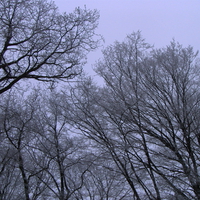
[[[100,11],[97,33],[104,46],[123,41],[140,30],[146,42],[164,47],[174,38],[184,46],[200,50],[200,0],[54,0],[61,12],[75,7]],[[101,57],[98,50],[88,56],[87,69]]]

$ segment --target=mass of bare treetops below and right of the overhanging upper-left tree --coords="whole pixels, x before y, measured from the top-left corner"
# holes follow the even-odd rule
[[[1,199],[200,199],[197,53],[136,32],[103,55],[103,86],[2,95]]]

